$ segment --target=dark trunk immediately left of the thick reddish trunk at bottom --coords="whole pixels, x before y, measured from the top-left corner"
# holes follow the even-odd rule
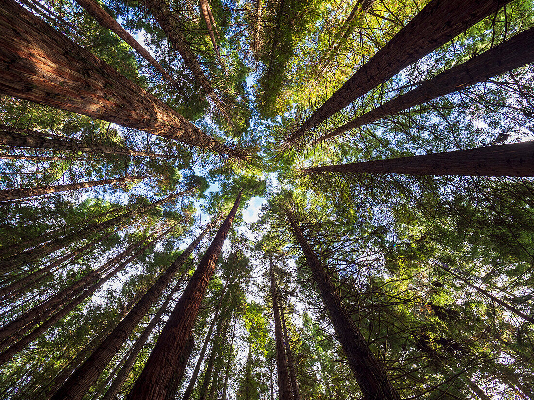
[[[185,249],[178,258],[170,265],[169,268],[160,276],[160,278],[148,289],[145,295],[137,303],[128,315],[115,327],[112,333],[104,342],[95,350],[89,359],[78,368],[74,374],[64,383],[64,385],[52,397],[54,400],[59,399],[81,399],[89,388],[95,383],[100,374],[104,371],[106,365],[111,361],[113,356],[120,350],[125,340],[127,340],[136,326],[141,322],[144,315],[154,305],[160,297],[163,290],[169,285],[185,261],[189,259],[193,250],[199,245],[203,237],[215,225],[218,219],[209,223],[206,229],[194,239],[194,241]],[[171,228],[172,229],[172,228]]]

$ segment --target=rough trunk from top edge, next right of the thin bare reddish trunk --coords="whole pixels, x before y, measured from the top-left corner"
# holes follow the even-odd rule
[[[192,52],[187,39],[184,36],[182,27],[180,27],[179,21],[176,20],[176,15],[172,14],[170,6],[164,0],[143,0],[143,4],[150,11],[156,22],[158,22],[161,29],[167,35],[169,42],[176,49],[176,51],[182,57],[184,64],[189,68],[196,81],[200,84],[203,91],[208,95],[215,106],[225,116],[227,121],[231,125],[231,121],[228,117],[226,108],[223,106],[222,101],[218,98],[217,94],[211,86],[211,82],[204,74],[204,71],[200,67],[197,56]]]

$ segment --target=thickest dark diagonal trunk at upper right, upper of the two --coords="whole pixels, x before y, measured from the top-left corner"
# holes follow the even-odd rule
[[[431,1],[319,107],[289,141],[347,107],[373,87],[460,35],[509,0]]]

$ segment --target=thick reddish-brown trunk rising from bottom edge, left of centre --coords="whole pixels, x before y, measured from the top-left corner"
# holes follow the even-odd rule
[[[191,336],[194,320],[206,294],[208,283],[215,270],[215,264],[221,254],[226,236],[241,202],[242,190],[239,192],[232,210],[218,230],[213,242],[202,257],[191,281],[176,303],[174,310],[163,327],[145,368],[128,394],[129,400],[163,400],[168,391],[171,371],[184,354],[186,342]]]

